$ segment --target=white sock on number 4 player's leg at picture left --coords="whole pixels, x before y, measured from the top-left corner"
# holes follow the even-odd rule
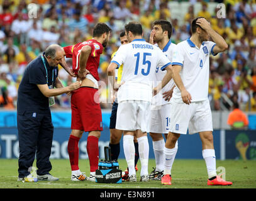
[[[174,159],[176,153],[178,151],[178,141],[176,141],[175,147],[172,149],[168,149],[164,147],[164,175],[171,175],[172,164],[174,163]]]

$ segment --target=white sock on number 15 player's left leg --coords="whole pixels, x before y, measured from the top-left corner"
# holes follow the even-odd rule
[[[133,136],[123,136],[123,151],[125,153],[125,159],[129,168],[129,175],[136,175],[135,171],[135,146],[133,143]]]

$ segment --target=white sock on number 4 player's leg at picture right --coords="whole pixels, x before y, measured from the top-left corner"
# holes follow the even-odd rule
[[[203,149],[202,151],[206,168],[208,172],[208,178],[216,177],[216,156],[214,149]]]

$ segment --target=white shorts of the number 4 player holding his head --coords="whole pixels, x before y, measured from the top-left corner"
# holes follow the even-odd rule
[[[189,134],[213,131],[209,100],[192,102],[189,105],[170,101],[170,132],[187,134],[187,128]]]

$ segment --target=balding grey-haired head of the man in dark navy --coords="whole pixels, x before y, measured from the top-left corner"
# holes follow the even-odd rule
[[[62,47],[57,44],[48,46],[45,50],[45,57],[50,66],[57,66],[64,57]]]

